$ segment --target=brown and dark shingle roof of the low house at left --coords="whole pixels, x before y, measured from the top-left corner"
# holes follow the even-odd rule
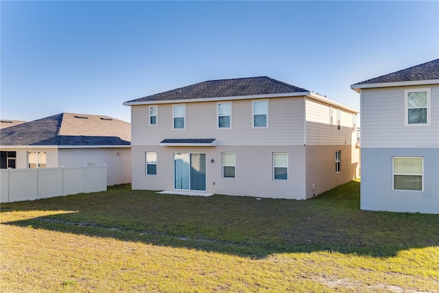
[[[111,117],[61,113],[1,129],[0,145],[130,145],[130,132]]]

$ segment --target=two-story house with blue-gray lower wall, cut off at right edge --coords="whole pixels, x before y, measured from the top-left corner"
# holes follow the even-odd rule
[[[351,88],[361,97],[361,209],[439,213],[439,59]]]

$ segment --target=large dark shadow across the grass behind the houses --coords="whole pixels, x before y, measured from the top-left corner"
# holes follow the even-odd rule
[[[335,251],[392,257],[439,246],[439,215],[359,210],[359,182],[311,200],[175,196],[109,187],[33,202],[2,204],[2,213],[75,211],[3,224],[185,247],[242,257]]]

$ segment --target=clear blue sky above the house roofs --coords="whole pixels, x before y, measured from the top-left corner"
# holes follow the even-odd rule
[[[359,108],[350,85],[439,58],[439,1],[0,1],[1,119],[130,121],[122,103],[267,75]]]

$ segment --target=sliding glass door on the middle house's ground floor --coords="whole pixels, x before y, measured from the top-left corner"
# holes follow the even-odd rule
[[[174,187],[206,191],[206,154],[174,154]]]

